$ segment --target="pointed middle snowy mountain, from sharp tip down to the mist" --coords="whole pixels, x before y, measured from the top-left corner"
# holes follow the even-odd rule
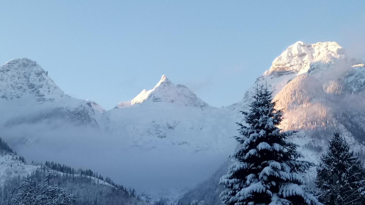
[[[166,76],[151,90],[105,112],[103,127],[144,149],[178,146],[191,152],[226,152],[234,148],[228,127],[232,115],[211,107],[184,85]],[[227,132],[228,131],[228,132]]]

